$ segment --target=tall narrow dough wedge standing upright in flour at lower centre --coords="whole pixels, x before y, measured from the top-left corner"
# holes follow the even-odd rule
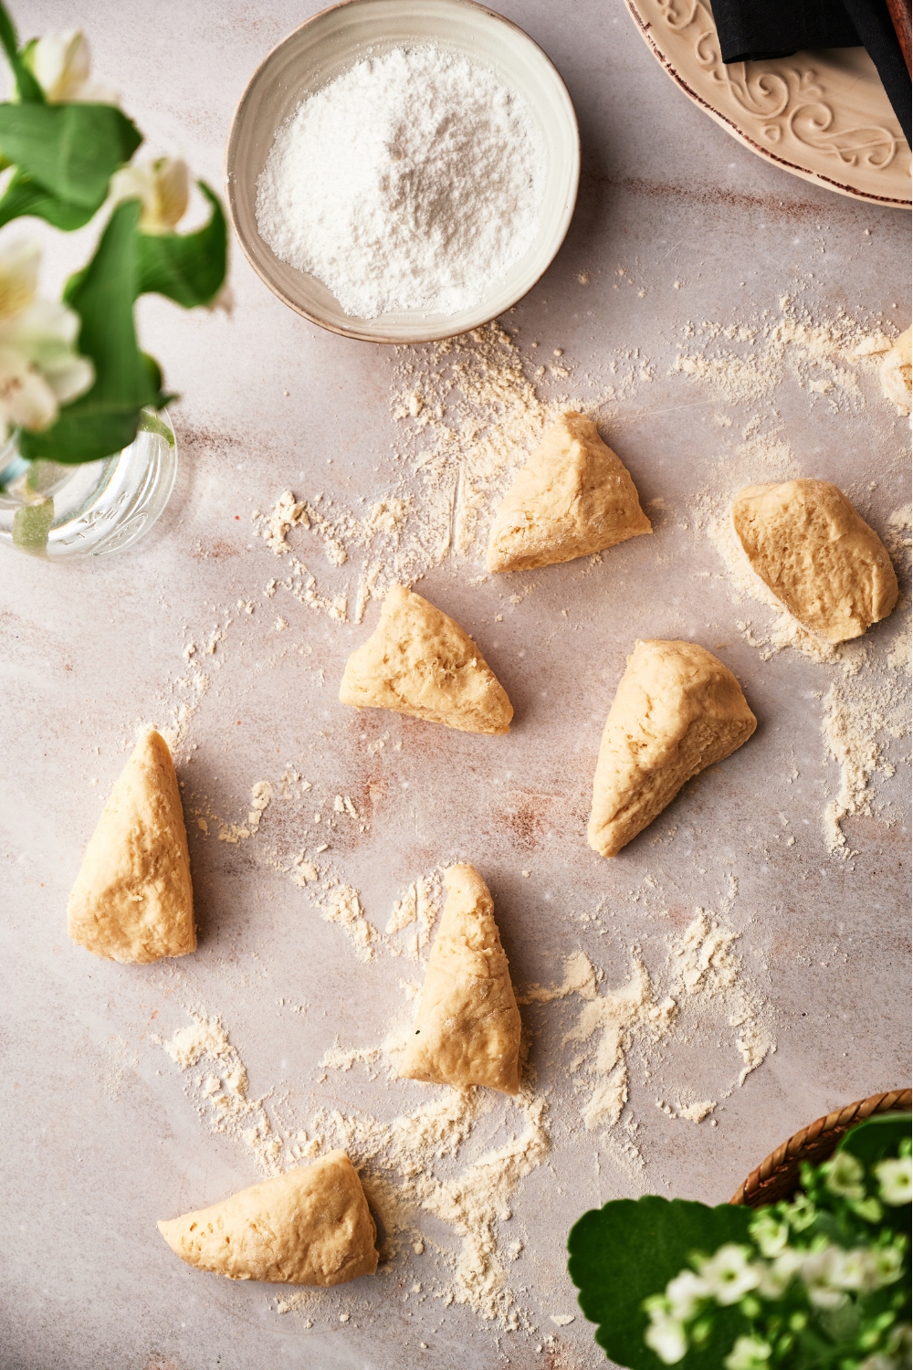
[[[400,1074],[427,1084],[520,1088],[520,1010],[487,885],[450,866],[419,1011]]]

